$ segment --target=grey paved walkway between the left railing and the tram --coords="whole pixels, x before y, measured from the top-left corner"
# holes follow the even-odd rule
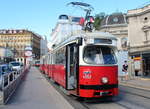
[[[0,109],[73,109],[42,74],[31,67],[10,101]]]

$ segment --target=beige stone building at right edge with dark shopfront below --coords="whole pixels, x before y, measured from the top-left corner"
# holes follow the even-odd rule
[[[128,37],[132,71],[139,75],[150,74],[150,5],[129,10]]]

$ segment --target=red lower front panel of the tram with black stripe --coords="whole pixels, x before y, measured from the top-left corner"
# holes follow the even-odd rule
[[[118,95],[118,67],[117,66],[81,66],[79,75],[79,96],[100,97],[101,93]],[[102,77],[108,78],[108,83],[102,83]]]

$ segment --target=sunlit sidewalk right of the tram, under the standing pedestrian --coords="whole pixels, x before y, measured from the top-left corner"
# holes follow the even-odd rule
[[[139,76],[132,77],[129,80],[121,80],[121,78],[119,77],[119,85],[150,91],[150,78]]]

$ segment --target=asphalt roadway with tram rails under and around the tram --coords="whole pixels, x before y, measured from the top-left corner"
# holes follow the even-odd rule
[[[75,96],[68,96],[60,90],[59,86],[47,79],[50,84],[75,109],[150,109],[150,92],[126,86],[119,86],[119,95],[110,99],[81,100]]]

